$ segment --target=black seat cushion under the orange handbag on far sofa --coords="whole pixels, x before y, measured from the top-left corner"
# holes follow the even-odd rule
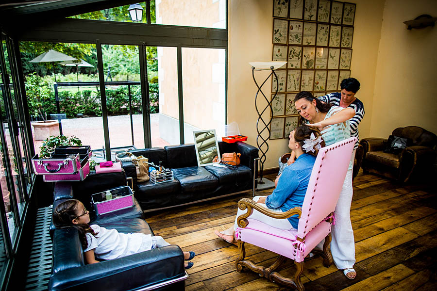
[[[252,172],[249,167],[238,165],[236,167],[219,168],[214,166],[205,166],[205,169],[216,176],[220,185],[246,183],[251,180]]]

